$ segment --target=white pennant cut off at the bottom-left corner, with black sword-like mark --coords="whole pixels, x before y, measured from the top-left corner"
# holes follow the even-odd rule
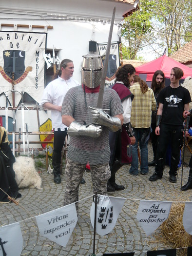
[[[20,256],[23,237],[19,222],[0,228],[0,256]]]

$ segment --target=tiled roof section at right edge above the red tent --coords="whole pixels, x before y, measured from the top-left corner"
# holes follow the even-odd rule
[[[180,62],[187,63],[192,61],[192,41],[186,43],[182,48],[173,53],[170,58]]]

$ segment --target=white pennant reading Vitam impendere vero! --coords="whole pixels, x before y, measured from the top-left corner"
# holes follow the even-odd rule
[[[36,216],[40,235],[66,246],[77,223],[75,203]]]

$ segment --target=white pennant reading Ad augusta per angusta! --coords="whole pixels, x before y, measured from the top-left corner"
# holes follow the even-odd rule
[[[136,218],[150,236],[169,216],[172,202],[141,200]]]

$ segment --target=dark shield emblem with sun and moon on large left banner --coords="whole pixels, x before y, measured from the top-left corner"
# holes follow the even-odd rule
[[[5,74],[12,79],[12,72],[14,72],[14,79],[19,79],[25,72],[25,51],[5,50],[3,59]]]

